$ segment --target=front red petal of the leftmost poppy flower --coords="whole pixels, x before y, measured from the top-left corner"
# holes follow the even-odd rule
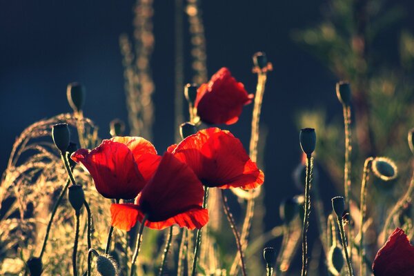
[[[134,199],[146,184],[124,144],[103,140],[94,150],[77,150],[72,159],[86,167],[103,197]]]

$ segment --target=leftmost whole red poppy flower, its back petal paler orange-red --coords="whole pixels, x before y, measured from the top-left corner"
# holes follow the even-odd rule
[[[113,137],[72,159],[86,167],[98,192],[110,199],[135,199],[159,164],[154,146],[142,137]]]

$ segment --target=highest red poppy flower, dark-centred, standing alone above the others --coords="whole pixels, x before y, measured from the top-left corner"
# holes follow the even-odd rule
[[[231,76],[227,68],[221,68],[208,83],[197,90],[195,107],[201,121],[207,124],[235,124],[244,105],[250,103],[253,94],[248,94],[241,82]]]

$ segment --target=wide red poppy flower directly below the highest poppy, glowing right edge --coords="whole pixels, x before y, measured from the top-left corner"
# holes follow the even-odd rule
[[[227,130],[200,130],[172,153],[194,170],[204,186],[253,189],[264,181],[262,170],[248,157],[242,142]]]

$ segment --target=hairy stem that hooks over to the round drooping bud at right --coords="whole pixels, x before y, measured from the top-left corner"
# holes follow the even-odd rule
[[[364,220],[366,215],[366,184],[368,183],[369,173],[371,172],[371,162],[373,157],[368,157],[364,162],[364,172],[362,173],[361,184],[361,206],[359,211],[361,212],[359,221],[359,274],[364,275],[365,272],[365,248],[364,248]]]

